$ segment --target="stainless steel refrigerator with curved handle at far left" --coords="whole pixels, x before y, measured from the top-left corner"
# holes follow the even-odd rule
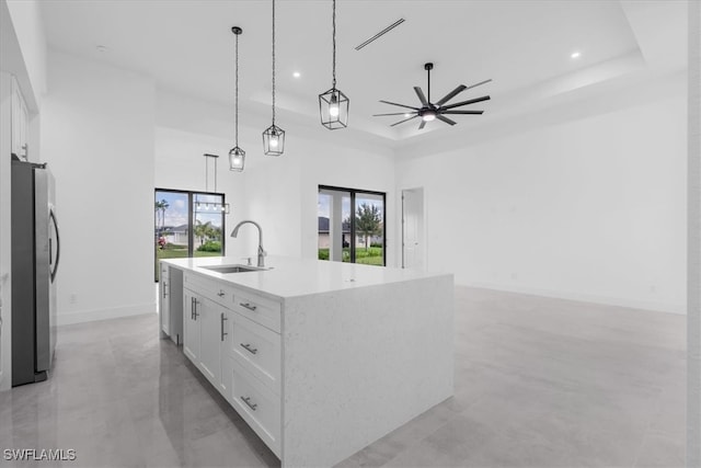
[[[12,386],[46,380],[56,347],[60,255],[54,176],[12,161]]]

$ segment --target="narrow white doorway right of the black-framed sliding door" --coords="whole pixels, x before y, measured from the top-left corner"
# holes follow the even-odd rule
[[[425,270],[424,189],[402,191],[402,269]]]

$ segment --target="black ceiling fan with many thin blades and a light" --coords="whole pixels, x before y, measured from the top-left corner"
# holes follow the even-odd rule
[[[398,104],[395,102],[390,102],[390,101],[381,101],[384,104],[391,104],[391,105],[397,105],[400,107],[405,107],[405,109],[410,109],[411,112],[399,112],[399,113],[393,113],[393,114],[375,114],[372,115],[374,117],[381,117],[381,116],[386,116],[386,115],[403,115],[404,118],[403,121],[397,122],[395,124],[392,124],[391,126],[395,126],[399,124],[403,124],[404,122],[409,122],[412,121],[416,117],[421,117],[422,122],[418,125],[418,129],[421,130],[422,128],[424,128],[424,126],[426,126],[426,122],[430,122],[434,119],[439,119],[445,122],[446,124],[449,125],[455,125],[457,122],[446,117],[446,115],[458,115],[458,114],[482,114],[484,111],[453,111],[456,107],[460,107],[463,105],[468,105],[468,104],[474,104],[476,102],[482,102],[482,101],[489,101],[490,96],[489,95],[484,95],[482,98],[475,98],[475,99],[471,99],[468,101],[462,101],[462,102],[457,102],[455,104],[447,104],[448,101],[450,101],[451,99],[453,99],[456,95],[458,95],[459,93],[461,93],[462,91],[472,89],[472,88],[476,88],[481,84],[484,83],[489,83],[490,80],[484,80],[481,81],[476,84],[472,84],[471,87],[466,87],[464,84],[460,84],[458,88],[456,88],[455,90],[450,91],[448,94],[446,94],[441,100],[436,101],[435,103],[430,102],[430,70],[433,70],[434,68],[434,64],[425,64],[424,65],[424,70],[426,70],[426,73],[428,75],[428,85],[426,87],[428,90],[428,98],[426,98],[426,95],[424,94],[424,92],[421,90],[420,87],[414,87],[414,91],[416,91],[416,95],[418,96],[418,100],[421,101],[421,107],[413,107],[411,105],[404,105],[404,104]]]

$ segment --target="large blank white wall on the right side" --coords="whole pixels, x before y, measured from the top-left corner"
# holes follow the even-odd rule
[[[644,102],[641,100],[641,102]],[[398,164],[456,283],[683,312],[686,100]]]

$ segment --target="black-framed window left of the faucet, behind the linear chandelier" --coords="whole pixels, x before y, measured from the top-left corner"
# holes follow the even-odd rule
[[[221,193],[156,190],[157,282],[159,260],[225,254],[225,206]]]

